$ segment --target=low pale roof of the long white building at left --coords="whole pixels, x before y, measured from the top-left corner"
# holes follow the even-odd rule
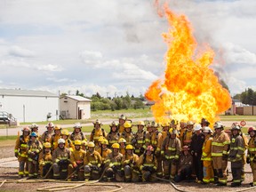
[[[6,96],[29,96],[29,97],[59,97],[59,95],[47,91],[0,89],[0,95]]]

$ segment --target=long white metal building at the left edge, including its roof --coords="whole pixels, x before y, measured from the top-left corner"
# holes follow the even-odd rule
[[[0,89],[0,111],[12,114],[18,122],[59,119],[59,95],[52,92]],[[47,116],[50,117],[47,119]]]

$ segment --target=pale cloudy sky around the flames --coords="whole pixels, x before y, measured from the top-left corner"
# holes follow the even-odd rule
[[[164,3],[159,1],[160,4]],[[185,14],[231,95],[256,90],[256,1],[167,0]],[[164,76],[155,0],[0,0],[0,88],[139,96]]]

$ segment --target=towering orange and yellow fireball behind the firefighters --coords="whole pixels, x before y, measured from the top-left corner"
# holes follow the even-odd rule
[[[209,68],[214,52],[209,46],[197,46],[185,15],[176,15],[166,4],[164,13],[171,26],[163,34],[168,45],[164,79],[153,82],[145,93],[148,100],[155,101],[151,110],[156,122],[164,123],[171,117],[199,123],[204,117],[213,124],[231,105],[229,92]]]

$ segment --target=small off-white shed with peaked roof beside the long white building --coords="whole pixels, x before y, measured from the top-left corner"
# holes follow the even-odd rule
[[[91,101],[81,96],[60,96],[60,116],[62,119],[91,118]]]

